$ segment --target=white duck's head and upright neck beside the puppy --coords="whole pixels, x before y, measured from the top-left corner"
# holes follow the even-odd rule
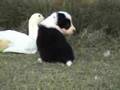
[[[29,19],[29,36],[36,40],[37,38],[37,33],[38,33],[38,25],[44,20],[44,17],[40,13],[35,13],[33,14],[30,19]]]

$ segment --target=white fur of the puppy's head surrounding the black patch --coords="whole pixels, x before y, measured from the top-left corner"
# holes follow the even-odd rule
[[[43,20],[41,22],[42,25],[50,28],[50,27],[54,27],[56,28],[58,31],[60,31],[62,34],[64,35],[72,35],[75,31],[76,31],[76,28],[75,26],[73,25],[72,23],[72,18],[70,16],[70,14],[68,14],[67,12],[64,12],[64,11],[59,11],[58,13],[63,13],[71,22],[71,27],[66,30],[66,29],[61,29],[58,25],[57,25],[57,12],[54,12],[52,13],[50,16],[48,16],[47,19]]]

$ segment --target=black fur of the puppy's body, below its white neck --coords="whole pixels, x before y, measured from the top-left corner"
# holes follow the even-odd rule
[[[74,60],[71,46],[64,35],[55,28],[39,26],[37,47],[44,61],[66,63]]]

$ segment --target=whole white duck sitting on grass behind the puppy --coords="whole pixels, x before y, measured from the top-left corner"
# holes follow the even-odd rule
[[[24,54],[36,53],[38,25],[43,19],[44,17],[40,13],[35,13],[30,17],[28,35],[14,30],[0,31],[0,51]]]

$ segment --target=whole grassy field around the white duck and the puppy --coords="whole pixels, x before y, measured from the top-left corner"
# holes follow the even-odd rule
[[[1,0],[1,29],[26,33],[32,13],[65,10],[77,34],[67,37],[76,57],[71,67],[39,63],[38,53],[0,53],[0,90],[120,90],[120,1],[61,1]]]

